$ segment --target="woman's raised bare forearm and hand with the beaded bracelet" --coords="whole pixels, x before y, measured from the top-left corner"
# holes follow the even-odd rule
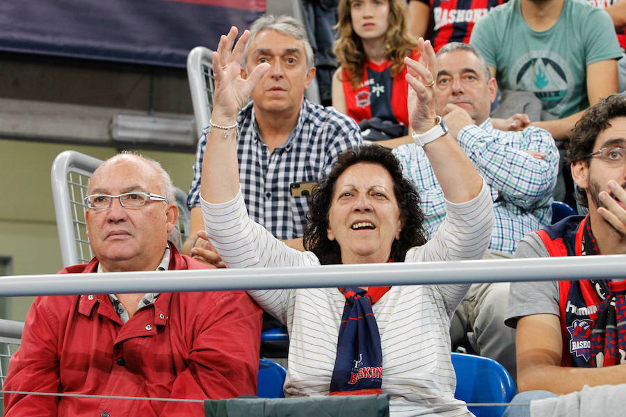
[[[243,78],[241,60],[250,32],[244,31],[235,44],[236,36],[237,28],[233,26],[228,35],[222,35],[218,49],[213,53],[214,107],[200,185],[200,195],[211,203],[228,202],[239,191],[235,127],[237,115],[246,104],[250,92],[269,70],[269,64],[262,63]]]

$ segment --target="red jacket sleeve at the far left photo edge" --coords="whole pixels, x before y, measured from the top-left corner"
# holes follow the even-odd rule
[[[3,389],[58,393],[60,377],[58,318],[48,313],[45,297],[37,297],[26,316],[22,343],[9,362]],[[58,397],[4,394],[4,416],[56,416]]]

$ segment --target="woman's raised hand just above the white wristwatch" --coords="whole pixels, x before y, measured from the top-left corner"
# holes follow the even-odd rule
[[[435,80],[437,77],[437,57],[431,42],[424,38],[417,40],[421,53],[418,62],[404,58],[407,67],[409,124],[417,133],[424,133],[435,126]]]

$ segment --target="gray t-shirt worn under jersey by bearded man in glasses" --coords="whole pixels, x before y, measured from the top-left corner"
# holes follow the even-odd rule
[[[550,255],[541,238],[535,232],[527,234],[517,245],[515,258],[547,258]],[[508,307],[504,324],[517,327],[517,320],[531,314],[559,313],[558,281],[512,282],[508,291]]]

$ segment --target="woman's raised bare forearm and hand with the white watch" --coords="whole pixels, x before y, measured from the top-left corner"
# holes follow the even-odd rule
[[[417,47],[422,54],[422,63],[405,58],[409,83],[409,123],[417,133],[425,133],[435,126],[435,81],[436,57],[431,42],[420,38]],[[427,86],[430,85],[430,86]],[[431,161],[435,176],[441,185],[444,197],[452,203],[467,202],[479,195],[483,179],[476,172],[472,161],[460,148],[456,140],[447,133],[442,138],[424,145],[424,152]]]

